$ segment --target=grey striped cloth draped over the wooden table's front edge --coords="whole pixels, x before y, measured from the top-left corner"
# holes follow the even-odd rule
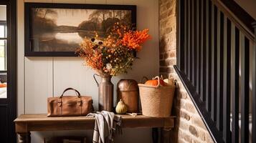
[[[122,119],[113,112],[97,112],[87,114],[88,117],[95,117],[93,132],[93,143],[112,143],[115,130],[122,133]]]

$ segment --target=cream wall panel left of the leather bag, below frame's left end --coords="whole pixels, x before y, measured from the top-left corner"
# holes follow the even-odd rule
[[[52,58],[25,58],[25,113],[45,113],[52,97]]]

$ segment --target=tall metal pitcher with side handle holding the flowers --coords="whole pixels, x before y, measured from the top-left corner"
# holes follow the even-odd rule
[[[101,77],[101,82],[98,83],[95,76]],[[98,85],[98,102],[99,111],[105,110],[108,112],[113,111],[113,87],[111,82],[112,76],[104,74],[93,74],[96,84]]]

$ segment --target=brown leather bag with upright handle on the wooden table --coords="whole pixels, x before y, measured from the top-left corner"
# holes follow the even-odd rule
[[[68,90],[74,90],[77,96],[65,96]],[[47,99],[47,117],[62,116],[86,116],[93,112],[92,97],[81,96],[76,89],[67,88],[60,97],[49,97]]]

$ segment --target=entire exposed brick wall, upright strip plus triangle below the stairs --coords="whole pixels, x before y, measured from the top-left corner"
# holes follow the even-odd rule
[[[176,64],[177,1],[159,0],[159,73],[163,77],[174,77],[178,83],[172,112],[176,121],[171,131],[171,142],[211,143],[212,137],[173,67]]]

